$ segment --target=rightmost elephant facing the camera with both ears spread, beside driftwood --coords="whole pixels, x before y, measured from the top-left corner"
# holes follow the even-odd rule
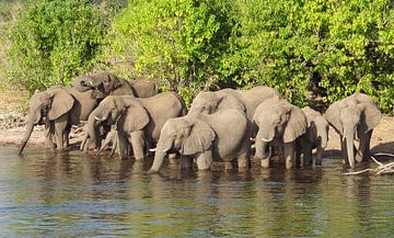
[[[344,162],[348,161],[355,168],[356,161],[368,161],[372,132],[382,117],[375,102],[369,95],[356,92],[329,105],[324,116],[339,134]],[[359,139],[356,150],[355,138]]]

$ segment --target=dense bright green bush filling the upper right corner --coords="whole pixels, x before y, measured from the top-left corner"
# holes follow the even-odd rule
[[[241,84],[277,88],[299,105],[306,90],[332,103],[356,91],[394,110],[394,3],[390,0],[234,0]]]

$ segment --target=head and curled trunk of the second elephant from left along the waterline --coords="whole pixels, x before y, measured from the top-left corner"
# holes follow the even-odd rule
[[[116,125],[120,132],[134,132],[148,125],[150,118],[141,103],[131,95],[108,95],[91,113],[88,121],[88,135],[96,145],[97,126]]]

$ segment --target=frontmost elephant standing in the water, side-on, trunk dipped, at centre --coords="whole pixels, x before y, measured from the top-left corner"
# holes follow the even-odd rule
[[[158,172],[167,152],[178,151],[181,168],[190,168],[193,160],[199,170],[209,169],[213,158],[231,168],[233,159],[245,160],[248,147],[245,139],[247,120],[237,109],[224,109],[198,117],[186,115],[169,120],[160,135],[150,172]]]

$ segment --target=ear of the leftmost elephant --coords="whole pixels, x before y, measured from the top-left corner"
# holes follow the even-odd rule
[[[48,94],[51,98],[51,105],[48,112],[48,118],[50,121],[59,118],[72,109],[74,99],[67,91],[53,89],[48,91]]]

